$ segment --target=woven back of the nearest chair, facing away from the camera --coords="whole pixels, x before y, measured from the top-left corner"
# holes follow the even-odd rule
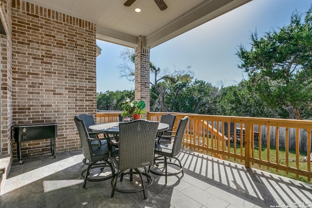
[[[158,124],[144,119],[119,123],[119,170],[153,164]]]

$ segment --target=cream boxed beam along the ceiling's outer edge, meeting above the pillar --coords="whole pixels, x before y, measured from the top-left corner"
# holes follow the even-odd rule
[[[249,1],[251,0],[203,0],[192,9],[145,36],[144,47],[153,48]],[[97,38],[132,48],[137,46],[138,41],[136,36],[103,27],[97,27]]]

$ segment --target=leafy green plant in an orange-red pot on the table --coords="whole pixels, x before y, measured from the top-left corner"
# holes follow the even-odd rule
[[[122,117],[128,117],[136,120],[140,119],[141,116],[143,116],[143,113],[147,112],[146,110],[143,110],[145,108],[145,102],[143,100],[131,101],[130,98],[126,98],[120,103],[120,105],[122,107]]]

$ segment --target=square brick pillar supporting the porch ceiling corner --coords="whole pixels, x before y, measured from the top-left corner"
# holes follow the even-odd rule
[[[144,47],[144,37],[139,37],[135,48],[135,99],[144,100],[150,111],[150,48]]]

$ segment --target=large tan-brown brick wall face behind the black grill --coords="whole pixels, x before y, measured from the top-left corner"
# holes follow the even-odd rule
[[[13,0],[12,45],[13,123],[57,122],[57,152],[80,149],[74,116],[97,110],[96,25]],[[49,142],[24,142],[22,154]]]

